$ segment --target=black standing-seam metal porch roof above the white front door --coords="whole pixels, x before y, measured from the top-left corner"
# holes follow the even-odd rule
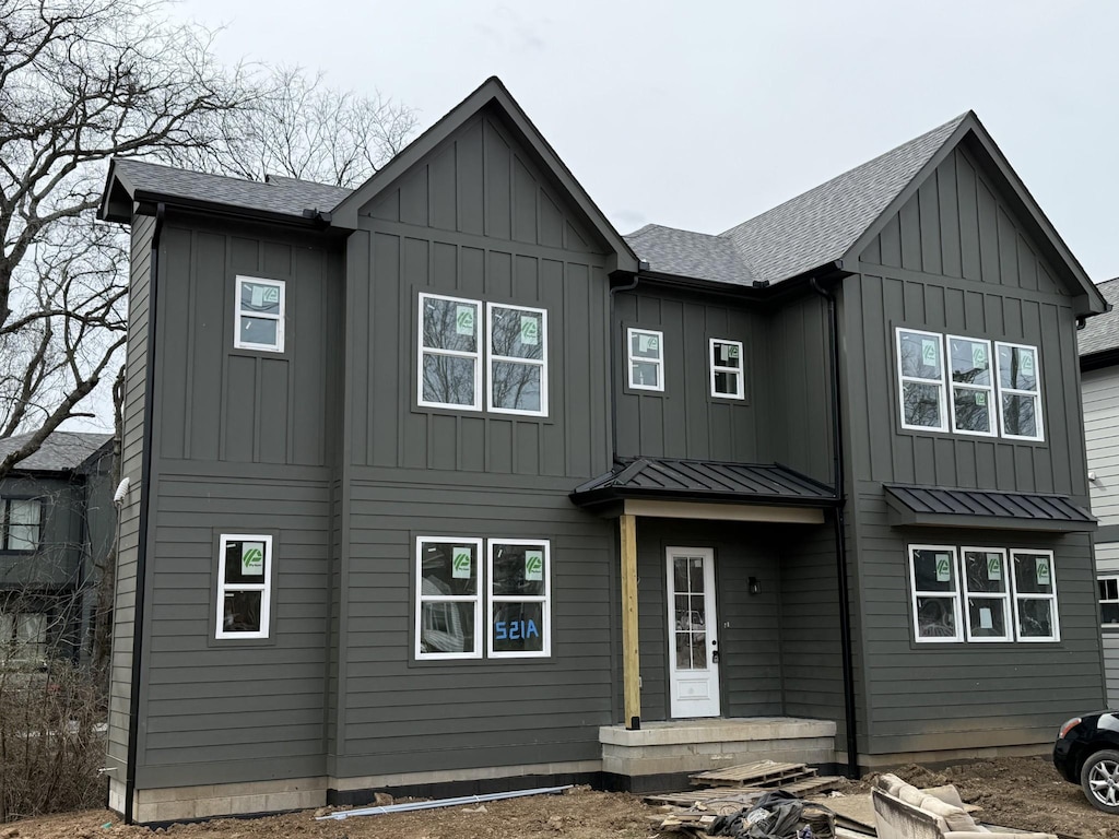
[[[580,506],[622,498],[811,507],[828,507],[836,501],[835,492],[826,483],[779,464],[677,458],[619,458],[610,472],[572,492],[572,500]]]

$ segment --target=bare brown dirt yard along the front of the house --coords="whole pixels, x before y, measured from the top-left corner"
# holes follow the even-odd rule
[[[1084,800],[1079,786],[1062,781],[1042,757],[1015,757],[949,766],[930,772],[904,766],[896,772],[919,786],[953,783],[965,801],[978,804],[985,821],[1083,839],[1119,839],[1119,817]],[[848,793],[865,792],[864,780],[846,782]],[[316,821],[304,811],[261,819],[219,819],[151,831],[125,827],[107,811],[86,810],[0,827],[0,839],[651,839],[649,816],[657,808],[630,795],[585,788],[563,795],[495,801],[454,809]],[[680,835],[668,835],[680,836]]]

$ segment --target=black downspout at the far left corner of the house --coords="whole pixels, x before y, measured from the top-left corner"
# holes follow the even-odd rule
[[[143,658],[144,592],[148,581],[148,528],[151,520],[151,440],[156,393],[156,319],[159,312],[159,239],[167,205],[156,206],[148,279],[148,347],[144,359],[143,459],[140,465],[140,536],[137,544],[137,588],[132,622],[132,684],[129,696],[129,754],[124,776],[124,823],[133,823],[137,789],[137,741],[140,735],[140,676]]]

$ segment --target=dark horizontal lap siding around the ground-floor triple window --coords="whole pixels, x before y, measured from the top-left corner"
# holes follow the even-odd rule
[[[1047,742],[1070,713],[1100,705],[1099,624],[1087,535],[901,530],[888,526],[881,489],[867,484],[857,505],[871,754]],[[918,644],[910,544],[1053,550],[1061,641]]]

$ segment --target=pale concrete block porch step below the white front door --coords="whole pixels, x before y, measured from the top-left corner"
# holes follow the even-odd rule
[[[830,770],[836,724],[794,717],[673,719],[599,728],[602,771],[632,792],[674,789],[693,772],[754,761],[807,763]]]

